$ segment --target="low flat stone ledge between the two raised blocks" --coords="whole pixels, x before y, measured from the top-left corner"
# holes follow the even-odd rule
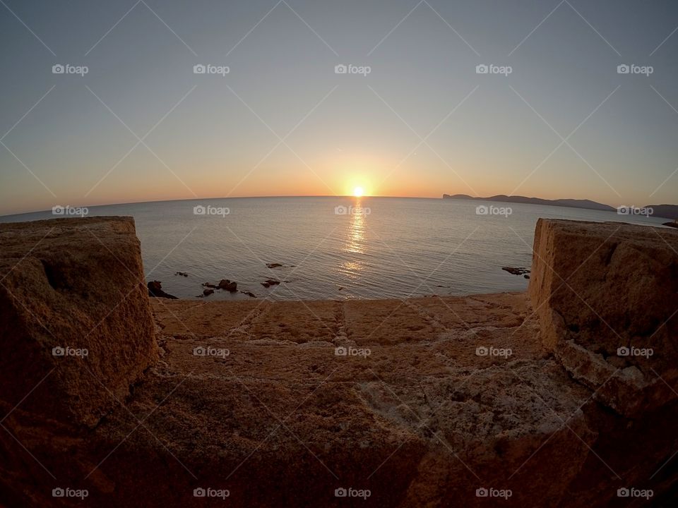
[[[0,504],[574,508],[625,506],[631,487],[675,500],[677,402],[611,411],[585,382],[609,360],[549,345],[528,294],[151,306],[160,358],[95,429],[0,401]],[[89,496],[55,500],[66,486]]]

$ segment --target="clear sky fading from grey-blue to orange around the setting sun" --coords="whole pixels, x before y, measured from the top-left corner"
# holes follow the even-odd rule
[[[0,214],[356,187],[678,203],[677,28],[670,0],[0,0]]]

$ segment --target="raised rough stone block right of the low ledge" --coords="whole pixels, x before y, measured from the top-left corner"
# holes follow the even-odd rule
[[[597,399],[633,416],[676,397],[678,231],[539,219],[529,294],[545,346]]]

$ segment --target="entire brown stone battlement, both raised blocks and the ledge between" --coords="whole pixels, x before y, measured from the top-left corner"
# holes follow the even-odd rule
[[[609,227],[540,221],[528,294],[154,299],[150,317],[129,219],[2,225],[0,238],[15,247],[3,255],[3,276],[14,282],[1,319],[28,322],[18,309],[30,304],[49,320],[3,336],[28,370],[1,371],[12,389],[0,398],[0,505],[670,505],[678,404],[665,387],[676,384],[678,231],[624,226],[615,237]],[[59,277],[23,261],[36,251],[37,260],[49,253]],[[118,259],[129,279],[114,268]],[[78,282],[83,274],[99,284]],[[20,293],[21,281],[39,275],[48,281],[31,283],[40,291]],[[66,290],[58,306],[49,291]],[[121,303],[125,290],[133,298]],[[642,307],[646,291],[657,293]],[[20,358],[47,362],[53,344],[78,334],[85,338],[76,346],[98,351],[82,326],[88,316],[92,326],[105,322],[111,310],[107,351],[120,373],[134,375],[115,377],[91,352],[52,367]],[[149,337],[153,320],[157,337]],[[636,344],[657,351],[615,358],[614,346]],[[42,391],[54,374],[84,380],[95,367],[111,374],[105,382]],[[45,368],[54,370],[31,385]]]

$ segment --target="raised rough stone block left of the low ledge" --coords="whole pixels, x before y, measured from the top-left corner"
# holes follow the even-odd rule
[[[0,400],[37,387],[23,410],[95,425],[157,359],[133,219],[0,224],[0,244]]]

